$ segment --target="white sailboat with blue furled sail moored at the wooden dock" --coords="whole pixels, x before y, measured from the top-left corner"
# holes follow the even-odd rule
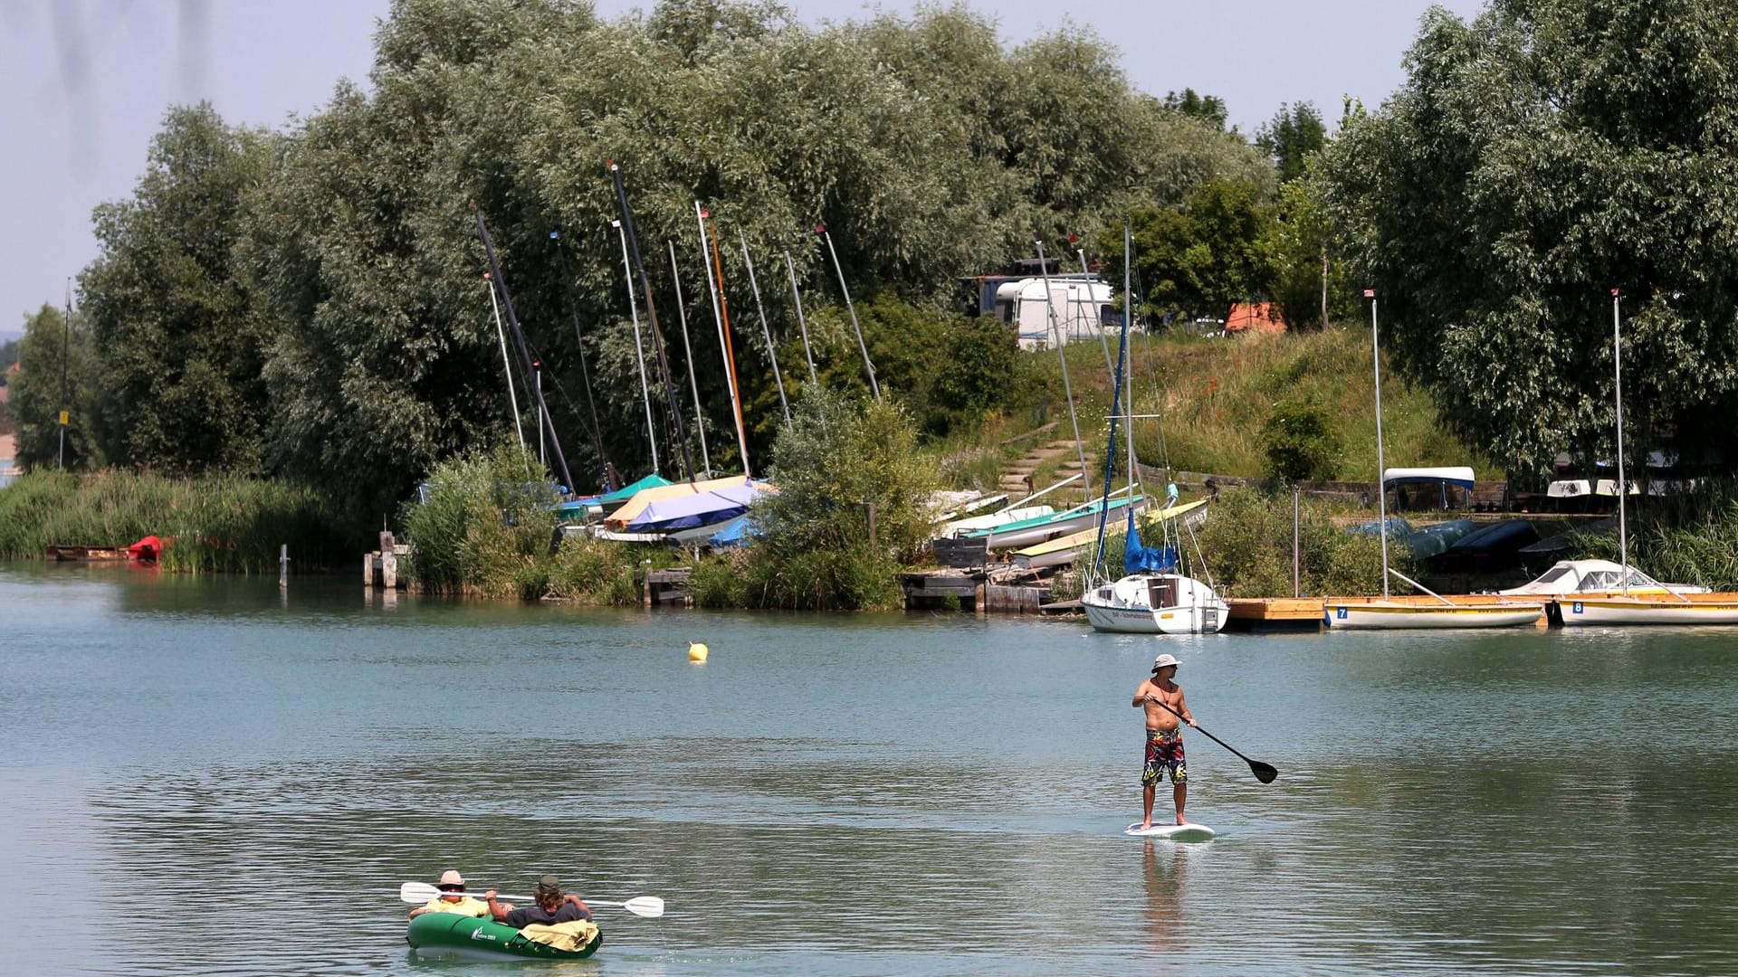
[[[1098,508],[1098,558],[1093,562],[1097,577],[1104,560],[1104,530],[1111,508],[1111,473],[1116,466],[1116,421],[1118,414],[1130,417],[1123,391],[1123,377],[1128,362],[1128,323],[1135,318],[1133,292],[1130,290],[1130,233],[1123,228],[1123,341],[1116,353],[1116,377],[1111,389],[1111,447],[1104,459],[1104,497]],[[1128,442],[1128,482],[1135,485],[1135,438]],[[1173,572],[1180,567],[1178,551],[1168,546],[1144,546],[1140,528],[1135,525],[1135,508],[1128,506],[1126,542],[1123,548],[1124,575],[1114,582],[1095,584],[1081,595],[1081,607],[1093,631],[1114,631],[1130,635],[1213,635],[1225,628],[1231,607],[1210,586],[1194,577]],[[1170,525],[1170,523],[1163,523]],[[1180,534],[1178,534],[1180,541]]]

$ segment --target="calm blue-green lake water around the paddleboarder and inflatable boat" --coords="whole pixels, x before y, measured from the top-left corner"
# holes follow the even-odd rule
[[[711,661],[687,661],[688,641]],[[1206,845],[1140,815],[1152,655]],[[1738,974],[1738,631],[1135,638],[0,565],[10,974]],[[1161,810],[1170,791],[1161,788]],[[596,899],[428,963],[403,881]]]

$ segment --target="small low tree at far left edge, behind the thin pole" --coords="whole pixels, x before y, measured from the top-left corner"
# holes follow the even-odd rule
[[[7,384],[17,462],[23,468],[56,468],[61,462],[61,410],[66,410],[66,468],[101,466],[103,449],[94,436],[96,356],[85,316],[73,313],[68,320],[61,309],[42,306],[24,320],[17,365]]]

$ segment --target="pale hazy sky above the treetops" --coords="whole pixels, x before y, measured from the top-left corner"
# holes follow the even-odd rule
[[[806,23],[914,3],[787,0]],[[1281,103],[1312,101],[1333,122],[1347,94],[1378,104],[1423,0],[973,2],[1018,43],[1088,26],[1123,52],[1133,83],[1225,99],[1253,132]],[[1477,0],[1444,0],[1470,17]],[[339,78],[367,83],[386,0],[0,0],[0,336],[96,257],[90,209],[127,196],[163,110],[210,99],[229,122],[282,125],[316,111]],[[648,2],[598,0],[619,16]],[[1062,14],[1065,10],[1065,14]]]

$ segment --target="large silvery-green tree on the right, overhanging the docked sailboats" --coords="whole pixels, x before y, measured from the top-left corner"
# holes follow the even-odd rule
[[[1502,0],[1425,16],[1408,82],[1326,150],[1383,346],[1512,469],[1627,440],[1738,459],[1738,17],[1724,2]]]

